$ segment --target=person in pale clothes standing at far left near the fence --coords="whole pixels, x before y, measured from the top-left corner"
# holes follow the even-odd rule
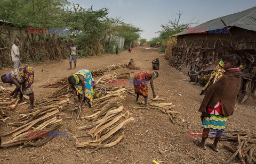
[[[22,66],[21,64],[22,58],[20,57],[20,50],[18,46],[19,46],[19,40],[15,39],[14,44],[12,45],[12,51],[11,51],[14,69]]]

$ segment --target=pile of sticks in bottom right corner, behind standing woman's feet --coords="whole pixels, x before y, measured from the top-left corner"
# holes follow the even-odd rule
[[[256,162],[254,153],[256,143],[256,133],[251,131],[227,131],[227,137],[221,137],[222,141],[235,141],[237,142],[236,148],[231,148],[229,145],[223,145],[226,149],[231,151],[233,154],[226,161],[230,163],[236,156],[238,156],[241,163],[252,163],[252,160]],[[254,155],[253,155],[254,154]]]

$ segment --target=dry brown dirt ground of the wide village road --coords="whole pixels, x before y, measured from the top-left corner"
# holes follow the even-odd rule
[[[199,138],[187,137],[187,131],[202,131],[200,113],[198,108],[203,100],[199,96],[202,87],[191,85],[186,79],[187,75],[180,73],[167,65],[163,54],[158,54],[156,48],[145,49],[136,47],[132,53],[124,51],[117,55],[104,55],[86,57],[77,60],[76,70],[70,70],[68,60],[54,61],[49,63],[31,64],[35,70],[35,102],[49,97],[57,89],[39,88],[43,84],[62,79],[72,75],[76,71],[86,68],[97,70],[112,64],[125,64],[133,58],[141,70],[152,70],[151,61],[158,57],[160,61],[159,77],[154,80],[155,92],[160,98],[166,98],[164,102],[172,102],[173,110],[179,111],[175,123],[171,123],[166,114],[155,109],[132,109],[139,106],[134,102],[135,94],[128,94],[124,102],[125,109],[131,111],[134,122],[130,123],[125,132],[126,137],[115,146],[100,149],[92,154],[87,153],[91,149],[75,147],[72,136],[82,135],[85,132],[77,132],[80,125],[74,120],[65,119],[60,131],[68,131],[68,137],[55,137],[39,148],[18,146],[0,149],[1,163],[223,163],[231,152],[223,148],[223,144],[235,145],[235,143],[220,141],[220,152],[211,149],[202,150],[193,141]],[[0,70],[0,74],[10,72],[12,68]],[[130,72],[131,77],[139,70],[127,70],[126,68],[110,71],[105,74],[119,74]],[[96,80],[99,79],[95,78]],[[2,85],[2,84],[1,84]],[[14,89],[4,84],[7,89]],[[127,85],[127,88],[133,88]],[[228,94],[228,93],[227,93]],[[149,90],[149,99],[152,92]],[[140,101],[143,101],[140,98]],[[23,105],[28,106],[28,105]],[[11,111],[15,114],[15,110]],[[64,109],[63,117],[70,116],[70,109]],[[233,116],[228,118],[226,130],[251,130],[255,131],[255,106],[236,105]],[[10,120],[15,119],[11,118]],[[0,123],[2,133],[11,130],[5,123]],[[7,138],[3,137],[6,142]],[[213,142],[212,139],[206,142]],[[255,158],[255,157],[254,157]],[[239,162],[237,159],[233,162]]]

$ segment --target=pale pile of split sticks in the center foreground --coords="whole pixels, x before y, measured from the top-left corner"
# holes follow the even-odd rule
[[[119,106],[117,103],[107,103],[101,110],[94,110],[94,113],[85,116],[84,118],[90,118],[91,122],[84,126],[78,127],[78,130],[87,130],[86,135],[91,136],[91,141],[79,142],[79,137],[76,137],[77,148],[95,148],[91,151],[97,151],[100,148],[109,148],[116,145],[124,137],[124,131],[127,128],[127,123],[134,120],[133,117],[129,117],[129,111],[122,113],[123,106]]]

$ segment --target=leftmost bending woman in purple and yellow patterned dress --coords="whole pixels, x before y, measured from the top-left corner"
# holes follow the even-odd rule
[[[34,69],[30,66],[21,66],[10,73],[1,76],[4,83],[13,83],[16,85],[14,91],[10,94],[16,98],[20,92],[20,102],[22,101],[23,94],[29,95],[30,106],[29,109],[34,108]]]

